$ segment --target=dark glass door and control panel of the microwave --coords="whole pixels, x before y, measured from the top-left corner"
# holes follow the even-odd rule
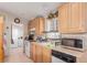
[[[62,45],[83,48],[83,40],[79,40],[79,39],[62,39]]]

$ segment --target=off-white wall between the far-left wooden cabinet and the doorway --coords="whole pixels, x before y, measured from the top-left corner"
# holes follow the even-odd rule
[[[7,33],[6,37],[7,37],[7,50],[9,53],[10,46],[11,46],[11,23],[14,22],[14,19],[18,18],[13,14],[10,14],[6,11],[0,11],[0,15],[4,17],[4,33]],[[21,19],[22,23],[25,23],[26,20]],[[7,29],[7,26],[9,26],[9,29]]]

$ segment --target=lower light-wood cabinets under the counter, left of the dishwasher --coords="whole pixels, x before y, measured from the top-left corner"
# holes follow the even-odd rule
[[[31,43],[31,59],[35,63],[51,63],[52,62],[52,52],[50,48],[46,48],[35,42]]]

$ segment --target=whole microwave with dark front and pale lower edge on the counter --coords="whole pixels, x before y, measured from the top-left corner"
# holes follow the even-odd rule
[[[62,45],[65,48],[83,52],[83,40],[80,39],[62,39]]]

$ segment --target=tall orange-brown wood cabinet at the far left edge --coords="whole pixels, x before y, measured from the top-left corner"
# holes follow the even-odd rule
[[[3,52],[3,17],[0,17],[0,62],[4,59]]]

